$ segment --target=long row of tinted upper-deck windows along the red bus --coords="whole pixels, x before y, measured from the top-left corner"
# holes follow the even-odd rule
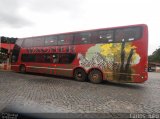
[[[132,42],[142,37],[142,27],[126,27],[95,30],[87,32],[79,32],[75,34],[52,35],[45,37],[26,38],[22,41],[17,41],[16,44],[24,47],[36,46],[56,46],[56,45],[70,45],[70,44],[90,44],[90,43],[120,43]],[[74,41],[73,41],[74,39]]]

